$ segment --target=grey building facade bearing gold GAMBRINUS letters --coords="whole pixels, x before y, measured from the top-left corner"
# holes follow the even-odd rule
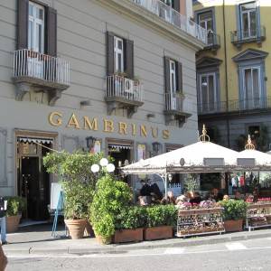
[[[51,149],[119,166],[194,142],[206,35],[191,16],[186,0],[1,1],[0,194],[42,219]]]

